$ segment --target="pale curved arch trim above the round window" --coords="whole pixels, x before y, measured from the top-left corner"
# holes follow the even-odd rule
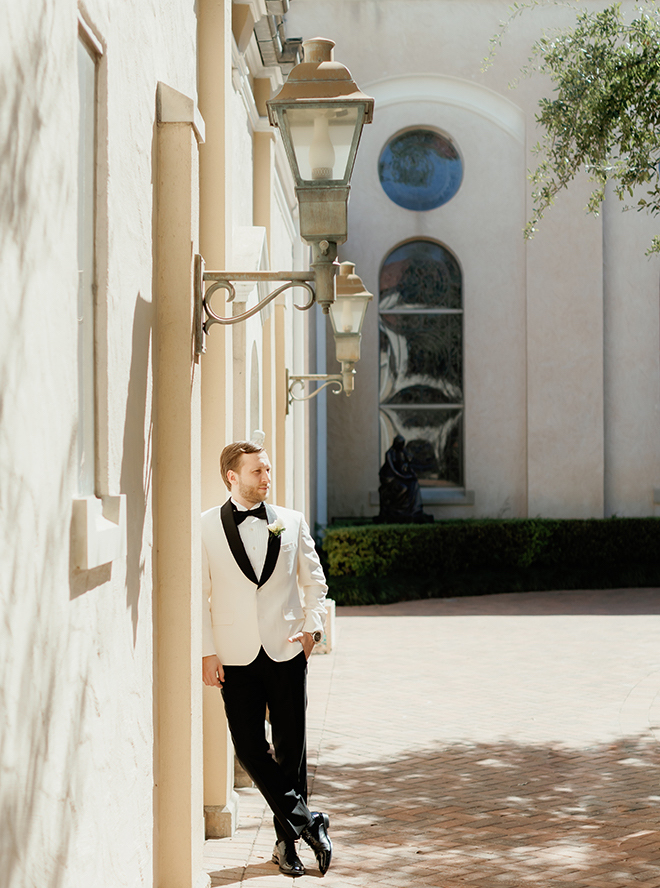
[[[411,102],[437,102],[465,108],[478,114],[517,142],[525,142],[525,115],[522,108],[499,93],[461,80],[440,74],[407,74],[403,77],[388,77],[364,84],[362,89],[376,100],[376,109]]]

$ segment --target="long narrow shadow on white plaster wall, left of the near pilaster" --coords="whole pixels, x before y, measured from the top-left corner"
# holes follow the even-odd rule
[[[153,403],[148,398],[153,331],[153,306],[138,293],[133,313],[131,368],[124,421],[121,491],[126,497],[126,607],[131,610],[133,644],[137,638],[140,586],[145,568],[151,570],[149,534],[144,522],[152,478]]]

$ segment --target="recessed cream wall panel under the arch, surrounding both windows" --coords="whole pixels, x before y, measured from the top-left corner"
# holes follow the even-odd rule
[[[452,103],[457,84],[439,77],[381,81],[369,89],[379,113],[360,146],[354,173],[360,184],[351,196],[342,257],[358,262],[356,270],[373,293],[378,293],[388,253],[411,238],[438,241],[457,257],[463,274],[466,486],[480,494],[468,514],[519,512],[526,486],[520,113],[474,88],[459,90],[459,98],[473,107],[457,107]],[[456,197],[436,210],[392,209],[378,181],[378,156],[391,135],[420,121],[451,134],[462,156],[464,181]],[[485,162],[484,144],[489,146]],[[378,366],[378,347],[375,303],[365,321],[355,393],[350,399],[329,399],[329,458],[342,465],[342,481],[331,485],[329,494],[333,515],[350,515],[357,503],[362,514],[377,511],[369,505],[369,493],[377,490],[382,463],[374,422],[378,380],[367,368]],[[334,352],[331,343],[328,352]],[[466,507],[461,508],[458,514],[465,514]]]

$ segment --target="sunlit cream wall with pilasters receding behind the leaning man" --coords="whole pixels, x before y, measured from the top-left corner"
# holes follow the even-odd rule
[[[200,151],[200,243],[206,268],[284,271],[306,267],[291,173],[279,135],[262,113],[264,96],[281,82],[281,72],[262,67],[249,29],[245,32],[241,25],[248,16],[245,8],[232,10],[230,0],[201,0],[199,15],[200,110],[206,123],[206,141]],[[240,283],[233,303],[219,291],[213,296],[213,308],[225,316],[241,313],[277,286]],[[265,446],[273,462],[271,501],[289,507],[295,504],[303,511],[308,508],[306,479],[301,479],[299,470],[298,475],[294,472],[294,466],[308,459],[307,409],[297,415],[297,425],[293,416],[286,415],[285,369],[292,367],[296,337],[305,336],[293,299],[294,294],[287,291],[264,312],[235,326],[215,325],[207,336],[202,359],[204,509],[223,503],[228,496],[218,470],[222,448],[250,438],[257,427],[266,433]],[[296,299],[299,304],[303,301],[299,294]],[[207,834],[230,835],[239,818],[233,791],[233,747],[220,695],[213,689],[205,689],[204,694],[204,762]]]

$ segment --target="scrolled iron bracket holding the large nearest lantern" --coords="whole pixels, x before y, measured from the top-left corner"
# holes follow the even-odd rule
[[[308,311],[316,302],[316,292],[310,282],[316,280],[316,273],[313,269],[310,271],[205,271],[204,259],[199,255],[195,255],[195,279],[194,279],[194,297],[195,297],[195,316],[194,316],[194,333],[195,333],[195,356],[198,357],[206,351],[205,337],[213,324],[239,324],[248,318],[254,317],[267,305],[276,299],[280,293],[290,290],[293,287],[303,287],[310,294],[309,302],[304,305],[295,305],[298,311]],[[233,302],[236,296],[236,288],[234,283],[254,283],[258,284],[263,281],[284,281],[281,287],[273,290],[264,299],[261,299],[257,305],[231,317],[221,317],[217,315],[211,308],[211,297],[216,290],[226,290],[229,294],[227,302]],[[206,287],[207,283],[211,283],[210,287]]]

